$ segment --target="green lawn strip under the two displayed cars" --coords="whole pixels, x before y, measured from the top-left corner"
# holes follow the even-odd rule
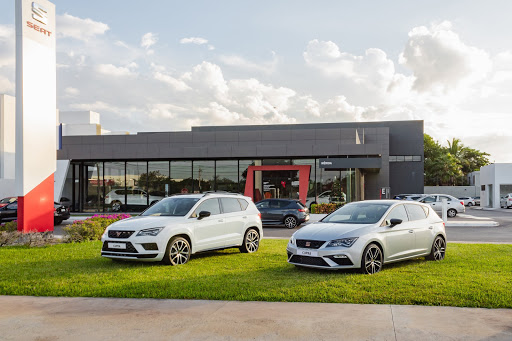
[[[512,308],[512,245],[449,244],[446,259],[368,276],[299,269],[286,241],[195,255],[184,266],[113,262],[100,242],[0,248],[0,294]]]

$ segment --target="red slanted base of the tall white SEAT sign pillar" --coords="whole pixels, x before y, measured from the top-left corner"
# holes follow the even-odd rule
[[[18,197],[18,231],[53,231],[53,174],[23,197]]]

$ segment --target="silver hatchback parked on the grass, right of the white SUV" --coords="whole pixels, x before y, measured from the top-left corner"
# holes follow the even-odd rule
[[[295,232],[288,262],[321,269],[359,268],[374,274],[387,263],[416,257],[443,260],[444,223],[428,205],[368,200],[347,204]]]

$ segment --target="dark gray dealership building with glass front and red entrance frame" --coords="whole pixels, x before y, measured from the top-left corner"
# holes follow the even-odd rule
[[[162,197],[239,192],[312,203],[423,192],[423,121],[192,127],[64,136],[56,197],[73,211],[140,211]]]

